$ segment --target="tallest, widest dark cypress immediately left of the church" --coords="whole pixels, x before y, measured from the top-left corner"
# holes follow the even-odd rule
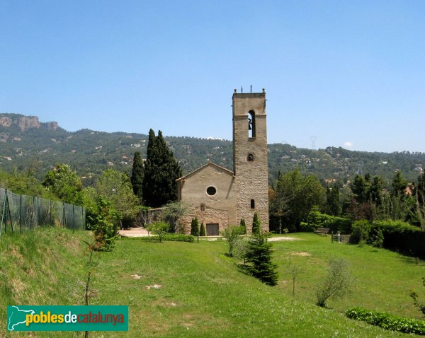
[[[155,136],[150,129],[142,189],[145,205],[157,207],[176,201],[176,179],[181,175],[180,165],[166,145],[162,132]]]

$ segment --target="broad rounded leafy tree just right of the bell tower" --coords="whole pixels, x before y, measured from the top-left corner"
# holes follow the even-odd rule
[[[307,220],[312,206],[322,206],[325,190],[314,175],[302,175],[298,168],[280,175],[273,204],[286,223],[300,230],[300,223]],[[276,200],[278,201],[276,203]],[[285,204],[284,206],[279,204]]]

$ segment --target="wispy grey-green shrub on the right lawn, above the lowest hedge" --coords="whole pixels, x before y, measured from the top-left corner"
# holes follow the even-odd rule
[[[346,260],[342,258],[329,260],[327,276],[316,290],[316,305],[325,308],[329,298],[341,298],[345,296],[348,292],[348,287],[351,285],[351,281],[351,273],[348,270]]]

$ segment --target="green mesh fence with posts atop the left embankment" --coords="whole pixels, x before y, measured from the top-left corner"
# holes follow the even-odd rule
[[[0,188],[1,233],[30,231],[37,226],[86,228],[86,209],[41,197],[14,194]]]

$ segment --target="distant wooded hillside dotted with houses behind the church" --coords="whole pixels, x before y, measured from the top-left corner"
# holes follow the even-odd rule
[[[17,124],[1,124],[2,119],[14,121],[23,115],[0,114],[0,170],[11,173],[14,168],[26,171],[35,169],[42,178],[56,163],[68,163],[91,185],[93,177],[106,168],[131,171],[132,156],[140,151],[146,156],[149,126],[141,126],[146,134],[125,132],[96,132],[81,129],[67,132],[49,123],[40,127]],[[27,117],[28,119],[34,117]],[[166,136],[167,144],[179,160],[183,173],[190,173],[208,161],[232,170],[232,142],[227,140],[198,139],[193,137]],[[380,175],[390,182],[396,170],[402,170],[407,180],[416,180],[421,168],[425,168],[425,153],[368,153],[348,151],[344,148],[327,147],[312,150],[289,144],[268,145],[269,182],[276,180],[278,172],[285,173],[300,168],[322,179],[346,182],[357,173]]]

